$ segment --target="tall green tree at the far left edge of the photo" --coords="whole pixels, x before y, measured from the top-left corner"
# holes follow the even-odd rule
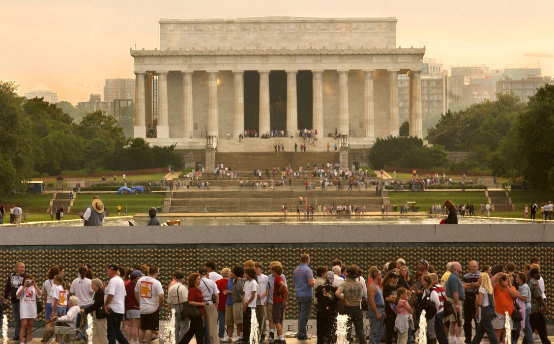
[[[30,122],[23,113],[18,85],[0,80],[0,191],[23,189],[22,179],[32,175]]]

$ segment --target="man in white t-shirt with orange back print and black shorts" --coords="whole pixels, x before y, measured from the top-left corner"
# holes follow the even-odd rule
[[[160,310],[163,306],[163,287],[157,280],[160,269],[156,265],[150,266],[148,276],[137,281],[135,298],[139,302],[140,328],[139,343],[146,344],[152,339],[152,332],[160,329]]]

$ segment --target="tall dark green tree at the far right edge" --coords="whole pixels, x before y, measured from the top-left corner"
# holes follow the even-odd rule
[[[517,118],[518,159],[531,187],[554,186],[554,85],[537,90],[529,108]]]

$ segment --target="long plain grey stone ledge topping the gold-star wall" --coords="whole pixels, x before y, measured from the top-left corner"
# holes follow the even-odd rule
[[[60,238],[64,238],[60,242]],[[0,247],[290,243],[554,243],[554,223],[4,227]]]

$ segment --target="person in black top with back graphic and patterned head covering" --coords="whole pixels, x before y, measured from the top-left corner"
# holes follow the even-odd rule
[[[337,287],[332,285],[335,279],[333,271],[327,271],[325,275],[325,284],[318,286],[315,289],[315,297],[317,298],[317,344],[335,343],[337,341],[336,325],[337,319],[337,298],[335,291]]]

